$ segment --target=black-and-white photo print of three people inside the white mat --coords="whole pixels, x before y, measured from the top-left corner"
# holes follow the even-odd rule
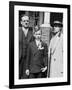
[[[62,77],[63,13],[19,11],[19,19],[19,79]]]

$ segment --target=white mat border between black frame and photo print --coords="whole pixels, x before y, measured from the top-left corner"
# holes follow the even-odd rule
[[[19,10],[24,11],[42,11],[42,12],[62,12],[63,13],[63,60],[64,60],[64,75],[62,78],[45,78],[45,79],[18,79],[19,71]],[[36,84],[36,83],[55,83],[67,81],[67,9],[63,8],[50,8],[50,7],[33,7],[33,6],[15,6],[14,7],[14,84]]]

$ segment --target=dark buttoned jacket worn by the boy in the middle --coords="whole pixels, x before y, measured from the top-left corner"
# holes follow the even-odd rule
[[[44,68],[48,64],[47,44],[42,42],[42,46],[44,47],[44,49],[38,50],[35,41],[29,44],[27,51],[26,68],[30,70],[30,73],[41,72],[41,68]]]

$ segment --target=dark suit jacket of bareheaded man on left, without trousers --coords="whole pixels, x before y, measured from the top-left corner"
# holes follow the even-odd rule
[[[19,60],[21,57],[26,56],[26,49],[28,44],[33,40],[33,31],[32,28],[29,28],[27,37],[22,30],[22,27],[19,28]]]

